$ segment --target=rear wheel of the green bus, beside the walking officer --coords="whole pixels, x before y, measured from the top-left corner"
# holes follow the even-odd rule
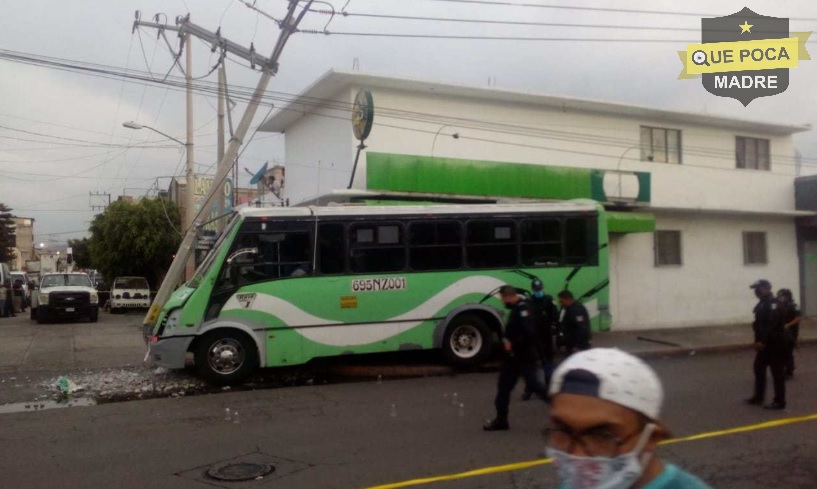
[[[492,334],[485,321],[474,314],[455,317],[445,330],[443,354],[449,363],[475,365],[491,353]]]

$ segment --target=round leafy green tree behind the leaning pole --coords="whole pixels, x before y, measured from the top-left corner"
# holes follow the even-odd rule
[[[107,283],[123,275],[158,286],[181,242],[179,209],[162,199],[117,201],[91,222],[91,264]]]

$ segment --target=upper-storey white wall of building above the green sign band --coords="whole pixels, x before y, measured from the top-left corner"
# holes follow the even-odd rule
[[[356,89],[353,87],[350,94]],[[647,171],[652,174],[655,206],[756,211],[794,209],[794,146],[790,136],[775,137],[432,93],[375,89],[373,97],[375,126],[366,141],[368,151],[432,156],[433,148],[433,156],[442,157]],[[395,114],[394,110],[415,114]],[[472,127],[473,122],[446,125],[444,122],[418,120],[428,119],[425,114],[489,121],[491,126],[480,129]],[[308,116],[306,119],[311,117],[320,118]],[[499,132],[495,124],[507,126]],[[348,154],[349,145],[355,144],[349,141],[352,139],[349,125],[325,121],[322,125],[339,131],[339,135],[332,136],[332,141],[338,144],[335,154]],[[680,129],[684,164],[638,161],[641,125]],[[539,137],[520,135],[522,129],[518,126],[538,128],[536,135]],[[460,138],[454,139],[454,133]],[[321,131],[321,135],[324,134],[326,131]],[[771,172],[736,168],[735,136],[738,135],[771,140]],[[340,137],[335,139],[337,136]],[[290,154],[293,157],[300,154],[299,151],[290,152],[290,146],[287,134],[288,161],[291,161]],[[324,175],[331,179],[336,168],[324,171]],[[358,172],[360,178],[356,179],[356,187],[365,188],[365,161],[361,161]],[[346,177],[348,180],[348,173]],[[314,187],[310,190],[314,193]],[[293,193],[289,195],[293,201],[301,200],[294,199]]]

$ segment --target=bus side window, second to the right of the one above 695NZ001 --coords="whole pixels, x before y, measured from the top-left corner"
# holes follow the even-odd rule
[[[466,259],[471,268],[517,265],[516,223],[504,220],[469,221]]]

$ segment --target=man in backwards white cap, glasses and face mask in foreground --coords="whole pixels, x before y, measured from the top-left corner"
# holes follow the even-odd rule
[[[663,462],[664,390],[640,359],[613,348],[576,353],[553,374],[544,430],[560,489],[711,489]]]

